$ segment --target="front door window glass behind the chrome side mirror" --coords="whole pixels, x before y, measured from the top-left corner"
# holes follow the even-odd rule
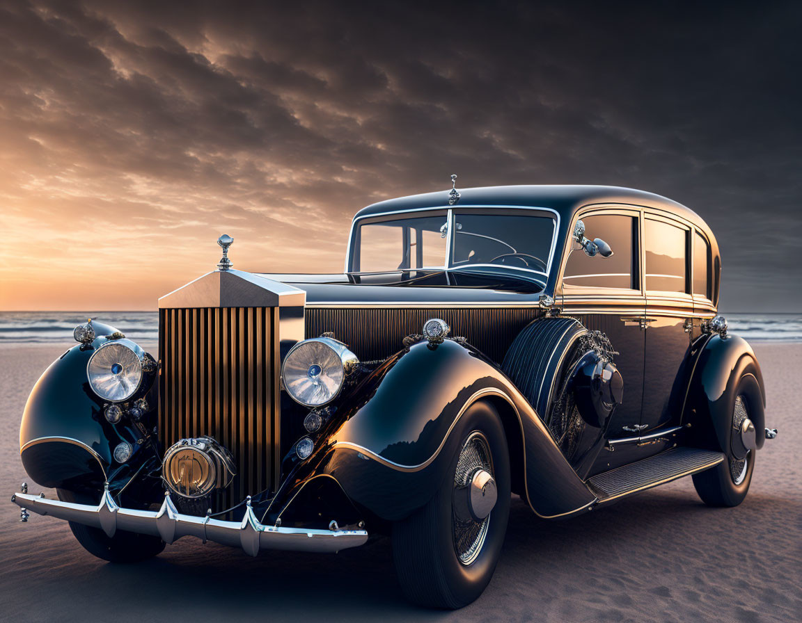
[[[626,215],[593,215],[581,219],[589,239],[601,238],[613,255],[588,257],[581,249],[571,251],[565,263],[563,283],[568,286],[635,287],[632,240],[638,220]]]

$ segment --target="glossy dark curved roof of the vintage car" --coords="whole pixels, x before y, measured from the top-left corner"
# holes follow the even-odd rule
[[[422,209],[427,207],[448,207],[449,191],[428,192],[422,195],[408,195],[397,199],[387,199],[363,207],[354,219],[381,215],[387,212]],[[452,206],[527,206],[547,207],[557,211],[561,219],[570,221],[573,213],[596,203],[618,203],[642,207],[654,207],[682,216],[704,231],[710,233],[703,219],[690,208],[671,199],[651,192],[618,186],[583,185],[520,185],[486,186],[477,188],[458,188],[460,199]]]

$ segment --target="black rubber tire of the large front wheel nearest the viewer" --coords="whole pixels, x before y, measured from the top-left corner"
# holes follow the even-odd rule
[[[504,545],[510,504],[507,440],[492,404],[481,400],[472,404],[452,435],[458,436],[460,444],[438,492],[423,508],[406,520],[396,522],[392,532],[395,569],[404,595],[415,604],[444,609],[470,604],[488,585]],[[464,524],[460,524],[454,514],[453,496],[460,454],[464,456],[468,443],[484,444],[488,449],[498,495],[495,506],[484,520],[484,537],[472,541],[473,545],[480,545],[470,557],[464,555],[460,560],[455,533]],[[463,468],[464,465],[460,466]]]

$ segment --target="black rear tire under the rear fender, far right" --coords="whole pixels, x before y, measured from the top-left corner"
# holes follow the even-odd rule
[[[733,420],[736,417],[736,404],[739,400],[742,401],[743,408],[746,409],[748,415],[750,403],[760,400],[759,385],[755,376],[747,374],[739,380],[735,398],[730,405]],[[730,429],[731,435],[738,434],[732,426],[732,420]],[[708,506],[738,506],[746,498],[747,492],[749,492],[752,472],[755,471],[755,451],[748,452],[746,458],[739,461],[732,455],[731,447],[732,440],[730,440],[727,452],[725,452],[727,460],[719,463],[714,468],[693,475],[696,492]]]

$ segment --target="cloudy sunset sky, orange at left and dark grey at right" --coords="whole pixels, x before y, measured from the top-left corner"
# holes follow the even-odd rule
[[[380,8],[379,8],[380,7]],[[516,183],[707,220],[722,311],[802,311],[798,3],[0,0],[0,310],[342,271],[381,199]]]

